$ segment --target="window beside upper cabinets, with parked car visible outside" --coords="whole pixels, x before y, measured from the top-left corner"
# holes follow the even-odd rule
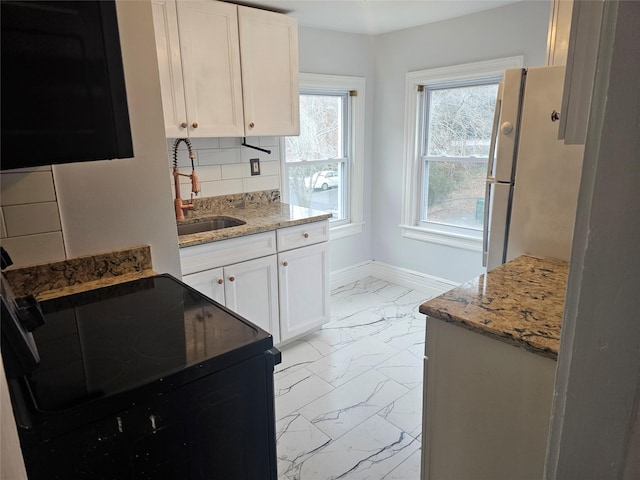
[[[364,79],[300,74],[300,135],[286,137],[282,190],[329,211],[331,238],[362,231]]]

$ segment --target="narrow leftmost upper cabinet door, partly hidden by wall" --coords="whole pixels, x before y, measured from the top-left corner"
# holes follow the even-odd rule
[[[188,135],[187,107],[184,103],[178,13],[173,0],[153,0],[153,25],[156,35],[158,70],[162,89],[162,110],[167,137]]]

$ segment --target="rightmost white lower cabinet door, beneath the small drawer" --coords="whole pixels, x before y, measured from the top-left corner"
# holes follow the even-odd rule
[[[324,242],[278,254],[281,341],[329,321],[328,253]]]

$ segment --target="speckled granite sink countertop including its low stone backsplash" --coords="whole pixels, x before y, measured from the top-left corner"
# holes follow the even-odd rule
[[[279,194],[272,193],[257,192],[250,199],[242,195],[196,199],[196,210],[187,211],[185,220],[178,224],[202,222],[213,216],[237,218],[246,223],[237,227],[179,235],[180,248],[331,218],[328,212],[281,203]]]

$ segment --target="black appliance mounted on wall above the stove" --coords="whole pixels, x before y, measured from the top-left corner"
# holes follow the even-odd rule
[[[0,8],[0,169],[133,157],[115,1]]]

